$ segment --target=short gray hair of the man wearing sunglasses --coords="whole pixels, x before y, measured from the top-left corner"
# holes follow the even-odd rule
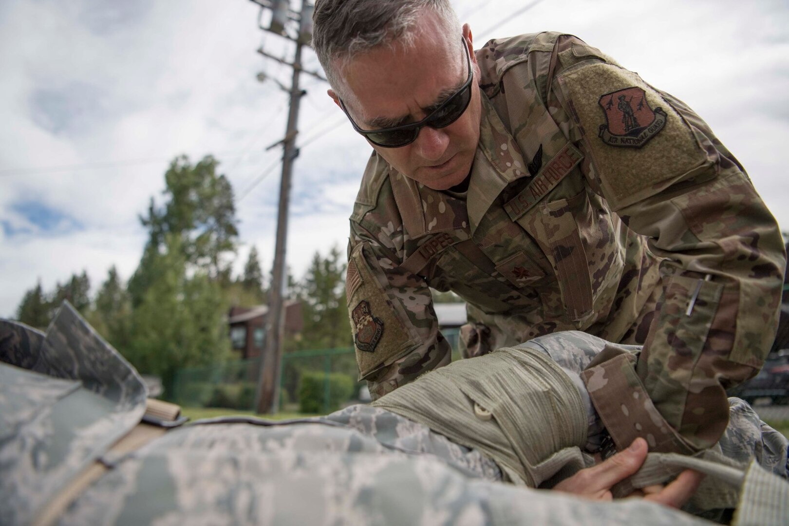
[[[413,44],[413,28],[422,9],[432,9],[446,28],[450,45],[458,40],[460,22],[449,0],[316,0],[312,47],[332,88],[342,85],[336,69],[354,55],[379,46]]]

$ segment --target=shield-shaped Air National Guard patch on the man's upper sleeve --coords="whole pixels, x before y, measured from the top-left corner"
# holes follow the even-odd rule
[[[607,93],[598,101],[608,124],[600,125],[598,136],[605,144],[640,148],[666,125],[666,112],[653,111],[641,88]]]

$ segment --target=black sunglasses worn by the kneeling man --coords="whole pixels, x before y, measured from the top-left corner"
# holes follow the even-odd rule
[[[398,148],[411,144],[413,141],[417,140],[419,130],[424,126],[444,128],[451,125],[454,121],[457,121],[466,111],[466,108],[469,107],[469,103],[471,102],[471,81],[474,78],[471,71],[471,57],[469,56],[469,47],[466,45],[466,39],[462,39],[462,43],[463,49],[466,50],[466,65],[469,69],[469,78],[466,79],[466,83],[463,84],[458,91],[455,91],[449,99],[445,100],[441,106],[433,110],[431,114],[419,122],[412,122],[406,125],[372,130],[361,129],[353,121],[353,118],[351,118],[348,110],[346,110],[345,104],[342,103],[342,99],[339,99],[340,107],[348,116],[348,120],[350,120],[353,129],[365,136],[372,144],[385,148]]]

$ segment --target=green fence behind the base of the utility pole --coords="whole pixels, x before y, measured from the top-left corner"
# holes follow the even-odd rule
[[[176,373],[165,394],[184,407],[255,408],[260,359],[231,360],[211,367],[187,367]],[[280,368],[279,407],[287,412],[327,413],[369,401],[365,382],[357,382],[353,348],[285,353]]]

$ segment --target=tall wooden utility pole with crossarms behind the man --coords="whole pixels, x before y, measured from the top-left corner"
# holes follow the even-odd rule
[[[323,79],[319,73],[305,71],[301,68],[301,49],[312,40],[312,4],[309,0],[301,0],[301,11],[290,9],[289,0],[251,0],[260,6],[258,25],[264,31],[275,33],[296,43],[294,62],[268,54],[263,47],[258,52],[264,57],[274,59],[293,68],[293,79],[290,88],[279,82],[280,88],[290,93],[290,113],[285,137],[272,144],[268,149],[282,144],[282,181],[279,185],[279,213],[277,215],[277,241],[274,252],[274,268],[271,272],[271,292],[268,300],[266,324],[266,345],[260,356],[260,372],[256,389],[256,409],[259,413],[276,412],[279,408],[279,369],[282,358],[282,339],[285,332],[285,249],[288,228],[288,204],[290,203],[290,177],[293,173],[294,160],[298,157],[296,136],[298,133],[298,110],[301,97],[306,91],[299,88],[299,74],[304,72]],[[271,22],[268,27],[262,24],[264,11],[271,10]],[[295,36],[293,33],[295,32]],[[258,75],[259,80],[266,80],[264,73]]]

